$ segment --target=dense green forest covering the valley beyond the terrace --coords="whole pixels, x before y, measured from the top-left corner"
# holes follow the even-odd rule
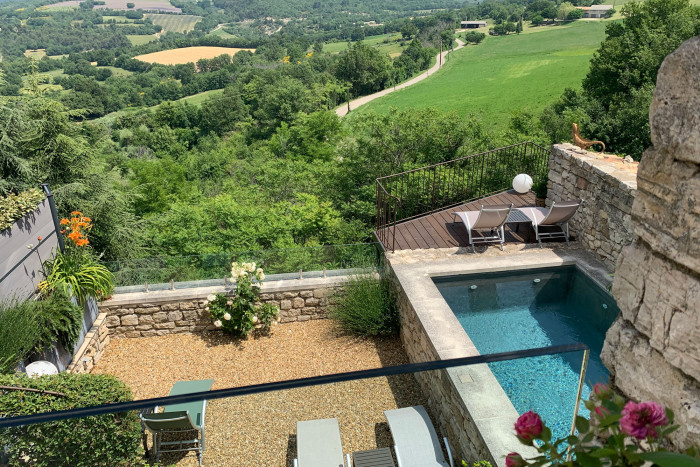
[[[232,22],[229,8],[242,3],[248,9],[236,14],[263,27],[261,15],[276,3],[173,3],[204,19],[189,34],[168,32],[138,46],[121,28],[155,31],[148,20],[103,27],[104,13],[93,10],[35,21],[32,9],[0,7],[0,196],[50,183],[62,214],[79,210],[93,219],[92,247],[103,261],[368,242],[377,177],[526,140],[561,142],[572,115],[613,151],[639,158],[649,145],[645,118],[656,71],[666,54],[700,33],[698,8],[687,0],[631,3],[623,21],[610,23],[582,88],[566,91],[542,115],[512,115],[507,127],[495,129],[437,109],[347,122],[334,107],[426,69],[439,41],[453,40],[457,21],[531,21],[561,2],[442,3],[460,8],[412,20],[401,16],[409,7],[437,2],[353,2],[357,11],[393,12],[381,27],[384,33],[391,24],[401,34],[402,52],[393,58],[361,40],[324,53],[329,39],[321,23],[308,26],[316,6],[330,24],[326,2],[279,2],[303,19],[276,34],[248,28],[232,38],[203,28]],[[401,10],[389,8],[399,3]],[[82,22],[71,25],[75,18]],[[133,59],[189,45],[256,52],[185,65]],[[67,55],[31,60],[25,49]],[[201,105],[177,101],[214,89],[223,91]],[[129,108],[138,110],[117,112]]]

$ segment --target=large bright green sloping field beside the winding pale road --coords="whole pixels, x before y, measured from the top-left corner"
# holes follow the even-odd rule
[[[448,56],[443,68],[409,88],[350,113],[437,107],[504,127],[514,111],[539,112],[567,87],[579,87],[609,21],[579,21],[537,34],[487,37]]]

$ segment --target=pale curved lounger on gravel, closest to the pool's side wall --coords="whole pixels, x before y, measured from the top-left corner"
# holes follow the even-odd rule
[[[394,438],[399,467],[454,467],[447,438],[445,448],[450,463],[445,462],[440,441],[425,407],[405,407],[384,412]]]

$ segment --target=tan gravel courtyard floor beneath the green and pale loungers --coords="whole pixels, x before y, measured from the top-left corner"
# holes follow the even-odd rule
[[[220,334],[113,339],[93,373],[111,373],[136,399],[165,396],[176,381],[213,378],[213,389],[407,363],[398,338],[346,336],[330,320],[290,323],[241,341]],[[296,422],[337,417],[343,450],[391,445],[383,411],[423,404],[413,375],[210,401],[205,466],[291,466]],[[197,465],[196,455],[164,456]]]

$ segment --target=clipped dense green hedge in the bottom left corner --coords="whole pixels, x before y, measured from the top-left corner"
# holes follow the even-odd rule
[[[65,397],[0,389],[0,417],[132,400],[129,388],[111,375],[61,373],[29,378],[0,375],[0,386],[56,391]],[[10,465],[33,467],[120,467],[143,465],[141,425],[135,412],[84,417],[0,430]]]

